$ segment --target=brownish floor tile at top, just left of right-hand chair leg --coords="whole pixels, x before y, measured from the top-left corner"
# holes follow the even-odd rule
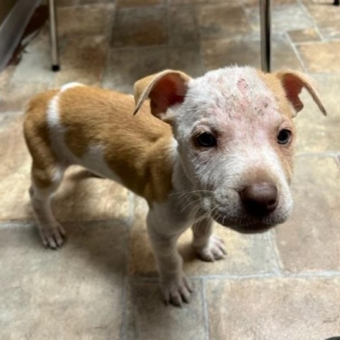
[[[200,6],[198,25],[200,38],[203,40],[243,35],[250,30],[242,6],[230,7],[225,4]]]

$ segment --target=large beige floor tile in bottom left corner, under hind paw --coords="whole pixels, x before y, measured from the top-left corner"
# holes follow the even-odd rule
[[[69,242],[50,251],[31,225],[0,226],[1,338],[120,339],[125,226],[67,229]]]

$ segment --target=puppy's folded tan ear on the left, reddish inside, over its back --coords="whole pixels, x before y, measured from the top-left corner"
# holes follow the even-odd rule
[[[134,86],[136,108],[133,114],[135,115],[142,103],[150,98],[152,114],[166,120],[167,108],[184,101],[190,79],[191,77],[183,72],[166,69],[138,80]]]

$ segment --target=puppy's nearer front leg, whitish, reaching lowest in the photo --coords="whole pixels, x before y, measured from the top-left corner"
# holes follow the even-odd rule
[[[160,225],[162,224],[162,225]],[[183,272],[183,259],[176,249],[176,242],[183,229],[171,231],[169,222],[157,218],[150,210],[147,216],[147,229],[152,243],[159,271],[159,282],[166,304],[172,303],[181,307],[183,302],[189,302],[193,286]],[[172,226],[173,227],[173,226]],[[168,232],[164,232],[167,230]]]

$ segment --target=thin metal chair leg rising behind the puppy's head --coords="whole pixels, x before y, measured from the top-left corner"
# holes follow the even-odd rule
[[[260,0],[261,67],[271,72],[271,0]]]

